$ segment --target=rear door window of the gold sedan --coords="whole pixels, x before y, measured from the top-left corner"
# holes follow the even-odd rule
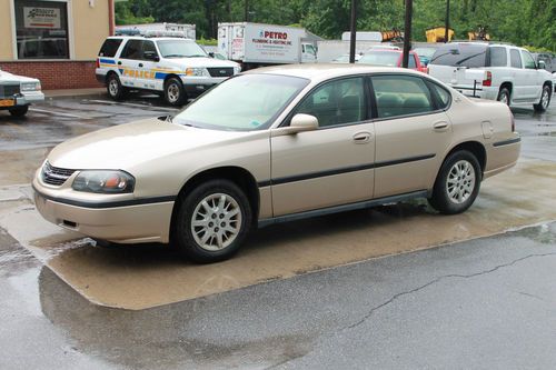
[[[371,81],[378,118],[417,114],[434,110],[430,90],[418,77],[375,76]]]

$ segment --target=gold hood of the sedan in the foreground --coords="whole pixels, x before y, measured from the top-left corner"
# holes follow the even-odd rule
[[[57,146],[48,156],[53,167],[130,170],[141,163],[222,143],[249,132],[206,130],[152,118],[90,132]]]

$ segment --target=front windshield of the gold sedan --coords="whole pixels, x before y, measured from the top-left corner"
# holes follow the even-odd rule
[[[308,83],[297,77],[238,76],[202,94],[172,121],[215,130],[264,130]]]

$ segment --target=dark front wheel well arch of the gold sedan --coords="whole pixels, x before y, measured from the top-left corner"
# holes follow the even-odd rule
[[[249,200],[249,206],[251,207],[252,222],[254,224],[257,223],[257,220],[259,219],[259,188],[257,187],[257,181],[255,180],[252,174],[244,168],[232,166],[219,167],[199,172],[183,184],[183,187],[179,191],[177,201],[173,204],[170,234],[173,233],[173,220],[178,213],[180,203],[179,200],[183,199],[199,183],[215,179],[229,180],[237,184],[245,192],[247,199]]]

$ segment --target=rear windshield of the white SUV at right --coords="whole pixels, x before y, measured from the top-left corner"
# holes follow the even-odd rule
[[[451,67],[485,67],[487,46],[480,43],[446,43],[438,48],[430,64]]]

